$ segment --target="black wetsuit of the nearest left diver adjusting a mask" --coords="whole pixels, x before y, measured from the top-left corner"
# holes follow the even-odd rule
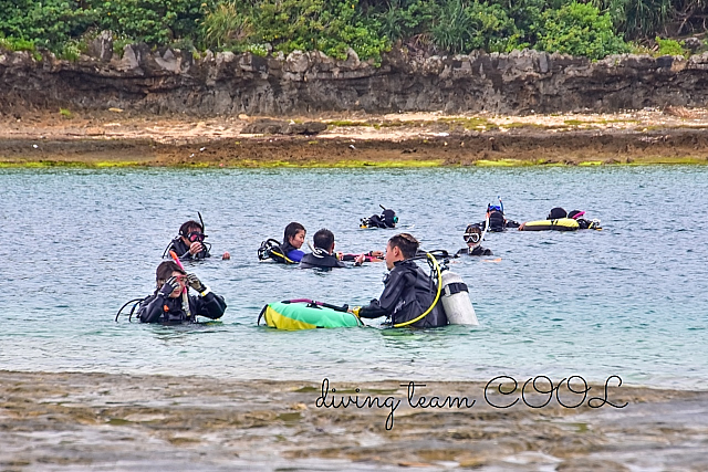
[[[196,323],[197,315],[217,319],[223,316],[226,311],[226,302],[223,298],[211,292],[206,296],[189,296],[189,311],[191,316],[187,314],[181,306],[181,295],[177,298],[165,296],[159,292],[155,292],[140,303],[137,315],[143,323]]]

